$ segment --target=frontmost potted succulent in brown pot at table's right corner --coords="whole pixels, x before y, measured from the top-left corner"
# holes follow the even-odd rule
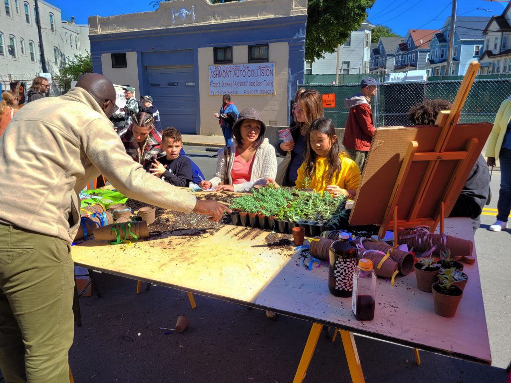
[[[454,285],[454,275],[443,274],[438,276],[438,282],[433,283],[433,304],[435,313],[442,317],[451,318],[456,314],[459,301],[463,296],[461,289]]]

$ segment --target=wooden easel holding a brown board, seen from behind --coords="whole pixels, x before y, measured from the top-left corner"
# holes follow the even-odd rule
[[[377,129],[350,216],[351,225],[380,225],[379,234],[429,226],[434,231],[452,211],[492,124],[458,124],[479,68],[472,62],[450,111],[434,126]],[[394,234],[394,245],[397,235]]]

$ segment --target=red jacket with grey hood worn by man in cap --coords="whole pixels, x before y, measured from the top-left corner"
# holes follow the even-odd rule
[[[355,94],[349,99],[345,99],[344,106],[350,108],[350,112],[346,121],[342,145],[346,149],[367,152],[375,134],[371,106],[363,94]]]

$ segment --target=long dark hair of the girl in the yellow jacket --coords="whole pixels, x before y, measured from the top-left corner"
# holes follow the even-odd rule
[[[323,178],[326,177],[327,182],[330,180],[341,170],[341,161],[339,160],[339,142],[337,141],[334,128],[334,122],[330,118],[320,117],[315,119],[311,126],[309,127],[309,131],[307,132],[306,142],[306,151],[304,156],[305,162],[305,174],[309,178],[314,176],[314,172],[316,171],[316,157],[317,154],[311,147],[310,135],[312,132],[319,132],[328,135],[330,141],[332,141],[332,148],[328,153],[328,171],[323,174]]]

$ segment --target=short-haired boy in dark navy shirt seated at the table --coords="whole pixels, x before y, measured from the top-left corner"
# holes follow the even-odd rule
[[[174,186],[188,186],[193,182],[190,158],[180,156],[183,147],[181,133],[170,127],[161,135],[161,149],[165,156],[156,158],[150,171]]]

